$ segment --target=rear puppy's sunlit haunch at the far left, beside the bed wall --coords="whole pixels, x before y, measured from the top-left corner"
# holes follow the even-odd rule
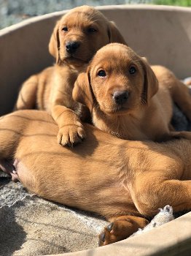
[[[15,110],[32,109],[36,105],[36,91],[38,85],[37,75],[32,75],[23,83],[18,94]]]

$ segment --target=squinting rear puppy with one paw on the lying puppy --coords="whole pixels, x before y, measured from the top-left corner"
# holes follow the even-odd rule
[[[58,143],[63,146],[72,146],[85,138],[80,117],[85,119],[87,111],[74,102],[71,93],[79,72],[109,42],[125,40],[101,12],[88,6],[69,11],[58,21],[50,38],[49,50],[56,59],[55,66],[23,83],[16,110],[38,108],[51,113],[59,127]]]

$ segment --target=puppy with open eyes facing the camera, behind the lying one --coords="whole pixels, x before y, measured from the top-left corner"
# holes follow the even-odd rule
[[[119,138],[176,137],[170,131],[172,100],[191,120],[189,90],[165,67],[152,69],[128,46],[106,45],[77,78],[73,99],[89,108],[95,127]]]

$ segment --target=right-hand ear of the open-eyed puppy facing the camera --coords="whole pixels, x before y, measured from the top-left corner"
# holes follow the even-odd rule
[[[141,99],[142,102],[148,104],[149,99],[151,99],[158,91],[158,80],[146,58],[141,58],[141,66],[144,69],[144,88]]]

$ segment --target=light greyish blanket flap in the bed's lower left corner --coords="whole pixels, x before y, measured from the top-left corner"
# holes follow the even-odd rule
[[[106,222],[27,195],[0,208],[0,255],[50,255],[98,246]]]

